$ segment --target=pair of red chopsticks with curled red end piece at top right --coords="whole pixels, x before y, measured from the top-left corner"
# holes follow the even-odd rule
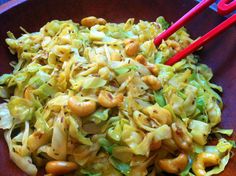
[[[158,46],[161,44],[162,40],[167,39],[174,32],[184,26],[187,22],[189,22],[194,16],[201,13],[204,9],[213,4],[216,0],[202,0],[199,4],[197,4],[194,8],[192,8],[189,12],[187,12],[182,18],[180,18],[177,22],[175,22],[170,28],[161,33],[154,39],[154,44]],[[221,15],[230,14],[236,10],[236,0],[221,0],[217,5],[217,11]],[[187,48],[183,49],[172,58],[166,61],[166,65],[173,65],[181,59],[185,58],[192,52],[196,51],[198,48],[206,44],[208,41],[231,27],[236,23],[236,14],[233,14],[231,17],[226,19],[224,22],[213,28],[211,31],[203,35],[201,38],[197,39],[195,42],[190,44]]]

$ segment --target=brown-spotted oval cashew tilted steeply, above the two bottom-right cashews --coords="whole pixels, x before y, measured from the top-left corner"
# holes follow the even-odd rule
[[[181,123],[175,122],[171,125],[171,129],[176,145],[184,151],[191,151],[193,141],[186,127]]]

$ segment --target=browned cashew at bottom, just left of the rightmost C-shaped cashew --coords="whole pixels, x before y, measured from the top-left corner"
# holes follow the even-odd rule
[[[159,167],[165,172],[171,174],[177,174],[185,169],[188,164],[188,156],[184,153],[180,153],[178,157],[174,159],[161,159],[159,161]]]

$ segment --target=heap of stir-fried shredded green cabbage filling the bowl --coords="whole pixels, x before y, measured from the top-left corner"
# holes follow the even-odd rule
[[[222,88],[194,55],[164,65],[193,41],[181,28],[156,48],[168,27],[163,17],[89,28],[54,20],[19,38],[8,32],[18,62],[0,77],[0,128],[16,165],[28,175],[71,161],[79,166],[72,175],[154,176],[170,172],[161,160],[184,152],[188,163],[174,174],[187,176],[197,154],[210,152],[220,162],[206,175],[222,172],[233,147],[221,136],[233,131],[215,127]],[[221,139],[209,146],[212,133]]]

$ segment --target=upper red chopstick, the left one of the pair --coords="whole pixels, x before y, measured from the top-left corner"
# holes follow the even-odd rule
[[[184,26],[187,22],[189,22],[194,16],[202,12],[204,9],[213,4],[215,0],[202,0],[195,7],[193,7],[189,12],[187,12],[183,17],[181,17],[177,22],[175,22],[171,27],[169,27],[166,31],[161,33],[154,39],[154,44],[156,46],[160,45],[162,40],[167,39],[170,35],[175,33],[179,28]]]

